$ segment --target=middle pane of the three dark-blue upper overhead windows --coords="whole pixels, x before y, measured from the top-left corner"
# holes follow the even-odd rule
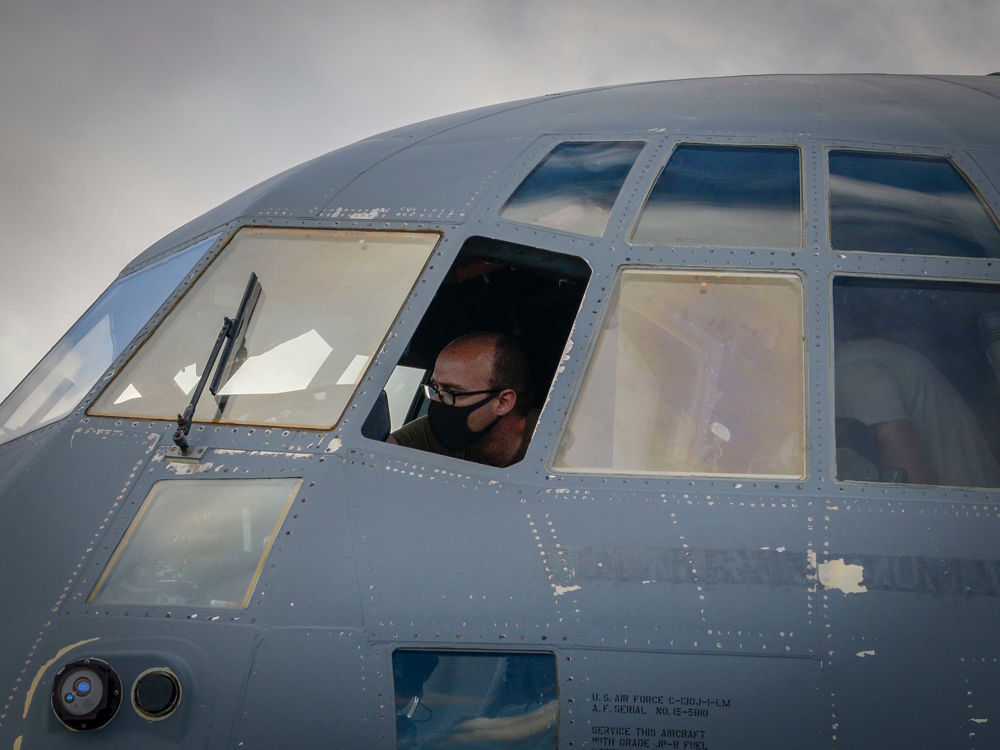
[[[799,150],[678,145],[632,241],[649,245],[802,247]]]

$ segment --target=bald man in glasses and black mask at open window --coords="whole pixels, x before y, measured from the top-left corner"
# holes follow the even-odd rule
[[[524,458],[538,421],[531,408],[528,360],[500,333],[470,333],[438,354],[427,416],[404,425],[387,442],[490,466]]]

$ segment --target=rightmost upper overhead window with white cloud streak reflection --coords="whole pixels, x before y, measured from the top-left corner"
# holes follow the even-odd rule
[[[942,156],[831,151],[830,243],[869,253],[1000,257],[992,212]]]

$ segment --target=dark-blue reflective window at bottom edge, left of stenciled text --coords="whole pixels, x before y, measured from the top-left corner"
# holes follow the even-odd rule
[[[553,654],[399,650],[392,674],[398,748],[558,746]]]

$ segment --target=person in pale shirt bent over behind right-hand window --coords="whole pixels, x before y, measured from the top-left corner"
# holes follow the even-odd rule
[[[871,429],[872,462],[883,476],[892,477],[882,481],[998,486],[1000,466],[976,416],[926,357],[870,338],[838,342],[835,363],[838,433],[845,419]]]

